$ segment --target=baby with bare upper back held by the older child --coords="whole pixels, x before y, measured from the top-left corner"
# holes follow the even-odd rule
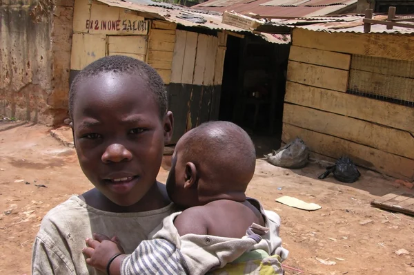
[[[168,195],[185,210],[164,219],[131,256],[113,238],[86,240],[87,263],[108,274],[283,274],[279,216],[245,196],[255,157],[247,133],[231,122],[189,131],[175,147],[167,180]]]

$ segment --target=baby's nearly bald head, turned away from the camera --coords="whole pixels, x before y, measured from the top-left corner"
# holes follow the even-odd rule
[[[219,199],[244,201],[255,164],[255,146],[242,128],[232,122],[201,124],[175,146],[168,196],[182,207]]]

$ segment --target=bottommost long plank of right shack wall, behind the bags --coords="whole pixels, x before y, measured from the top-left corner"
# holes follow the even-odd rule
[[[310,151],[328,155],[331,158],[348,155],[359,166],[395,178],[414,180],[414,160],[284,123],[282,140],[287,143],[296,137],[302,138]]]

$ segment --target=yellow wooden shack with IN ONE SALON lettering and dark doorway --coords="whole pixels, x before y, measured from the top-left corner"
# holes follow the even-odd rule
[[[262,115],[267,119],[262,128],[269,129],[276,122],[259,111],[276,110],[272,102],[284,90],[277,87],[285,79],[275,78],[280,70],[275,64],[284,60],[286,67],[290,41],[290,28],[279,30],[285,35],[253,33],[222,23],[217,12],[166,3],[75,0],[70,82],[92,61],[128,55],[146,61],[164,79],[175,115],[172,143],[209,120],[255,129]],[[283,93],[279,95],[283,104]],[[279,128],[281,133],[282,108]]]

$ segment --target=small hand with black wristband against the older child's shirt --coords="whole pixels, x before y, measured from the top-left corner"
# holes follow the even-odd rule
[[[82,249],[86,256],[86,263],[102,272],[106,272],[106,266],[112,256],[119,253],[125,254],[116,236],[110,239],[107,236],[95,233],[93,239],[86,239],[86,245],[88,247]]]

